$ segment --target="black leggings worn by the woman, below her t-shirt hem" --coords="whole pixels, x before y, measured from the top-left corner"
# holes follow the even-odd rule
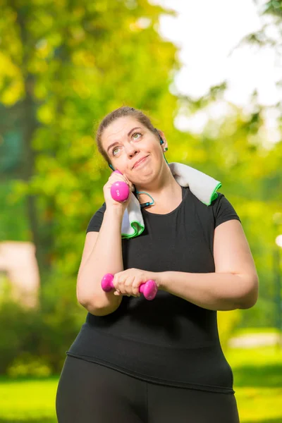
[[[235,396],[152,384],[66,357],[56,393],[59,423],[238,423]]]

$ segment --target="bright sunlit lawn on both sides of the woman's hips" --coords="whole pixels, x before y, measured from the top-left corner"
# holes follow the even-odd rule
[[[225,355],[240,423],[282,423],[282,350],[233,348]],[[56,423],[58,379],[0,378],[0,423]]]

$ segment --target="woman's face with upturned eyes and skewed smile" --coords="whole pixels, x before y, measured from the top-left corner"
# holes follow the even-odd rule
[[[125,116],[116,119],[104,130],[102,145],[115,170],[125,173],[133,183],[145,182],[160,171],[164,161],[166,140],[163,133],[160,132],[160,135],[164,140],[162,146],[157,134],[135,118]],[[145,161],[135,166],[138,160],[146,156]]]

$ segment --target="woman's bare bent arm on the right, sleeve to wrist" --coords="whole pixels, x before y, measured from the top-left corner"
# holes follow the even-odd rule
[[[214,264],[215,273],[158,272],[159,288],[210,310],[253,307],[259,279],[240,221],[233,219],[215,228]]]

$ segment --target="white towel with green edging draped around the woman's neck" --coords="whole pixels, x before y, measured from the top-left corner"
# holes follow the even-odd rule
[[[209,206],[217,197],[216,190],[221,188],[221,182],[197,171],[197,169],[182,163],[169,163],[171,173],[182,187],[189,187],[190,191],[204,204]],[[130,202],[123,214],[121,224],[121,238],[134,238],[145,229],[140,202],[135,195],[131,195]]]

